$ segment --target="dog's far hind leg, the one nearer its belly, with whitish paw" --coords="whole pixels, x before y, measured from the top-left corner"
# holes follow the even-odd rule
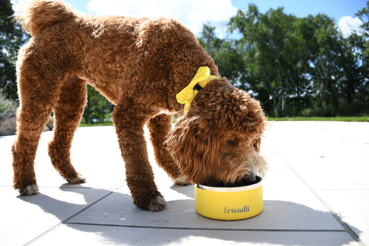
[[[83,183],[70,161],[72,139],[82,119],[86,105],[86,81],[69,76],[61,87],[59,100],[54,108],[54,135],[49,142],[48,152],[52,165],[69,183]]]

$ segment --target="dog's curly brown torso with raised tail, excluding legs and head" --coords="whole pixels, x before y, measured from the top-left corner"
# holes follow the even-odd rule
[[[66,66],[63,73],[86,80],[113,104],[122,90],[137,93],[132,95],[137,98],[152,91],[168,103],[166,98],[175,98],[200,66],[218,76],[196,36],[170,18],[90,16],[62,1],[34,0],[16,20],[33,37],[24,50],[41,48],[35,51],[39,58]],[[170,104],[170,110],[178,110],[175,100]]]

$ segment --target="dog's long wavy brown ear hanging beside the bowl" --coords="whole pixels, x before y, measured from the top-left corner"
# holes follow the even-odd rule
[[[211,181],[220,165],[216,126],[205,118],[179,117],[169,132],[166,144],[173,159],[182,168],[186,182],[202,184]]]

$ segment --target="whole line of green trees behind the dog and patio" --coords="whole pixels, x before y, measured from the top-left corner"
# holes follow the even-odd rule
[[[0,6],[1,119],[16,108],[16,54],[29,37],[10,21],[10,1]],[[297,18],[283,7],[261,13],[249,4],[228,24],[225,36],[237,38],[220,39],[204,25],[199,42],[220,74],[260,100],[269,116],[362,115],[369,113],[369,1],[356,16],[361,29],[344,37],[325,14]],[[90,86],[87,93],[82,121],[110,119],[113,105]]]

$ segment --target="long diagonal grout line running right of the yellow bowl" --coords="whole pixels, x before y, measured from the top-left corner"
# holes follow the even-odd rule
[[[346,222],[344,222],[341,217],[339,217],[336,212],[333,211],[333,209],[327,204],[327,202],[325,202],[323,200],[323,198],[320,197],[320,195],[318,195],[318,193],[315,192],[315,190],[313,190],[307,183],[305,180],[303,180],[303,178],[296,172],[296,170],[294,170],[292,168],[292,166],[277,152],[277,150],[275,148],[273,148],[274,151],[277,153],[277,155],[284,161],[284,163],[287,164],[287,166],[290,167],[290,169],[296,174],[296,176],[303,182],[303,184],[311,191],[311,193],[313,193],[313,195],[324,205],[324,207],[326,209],[328,209],[328,211],[331,213],[331,215],[337,220],[337,222],[345,229],[345,231],[352,237],[352,239],[354,239],[357,243],[359,243],[359,245],[362,246],[366,246],[365,243],[363,243],[363,241],[359,238],[359,236],[350,228],[350,226],[348,226],[346,224]]]

